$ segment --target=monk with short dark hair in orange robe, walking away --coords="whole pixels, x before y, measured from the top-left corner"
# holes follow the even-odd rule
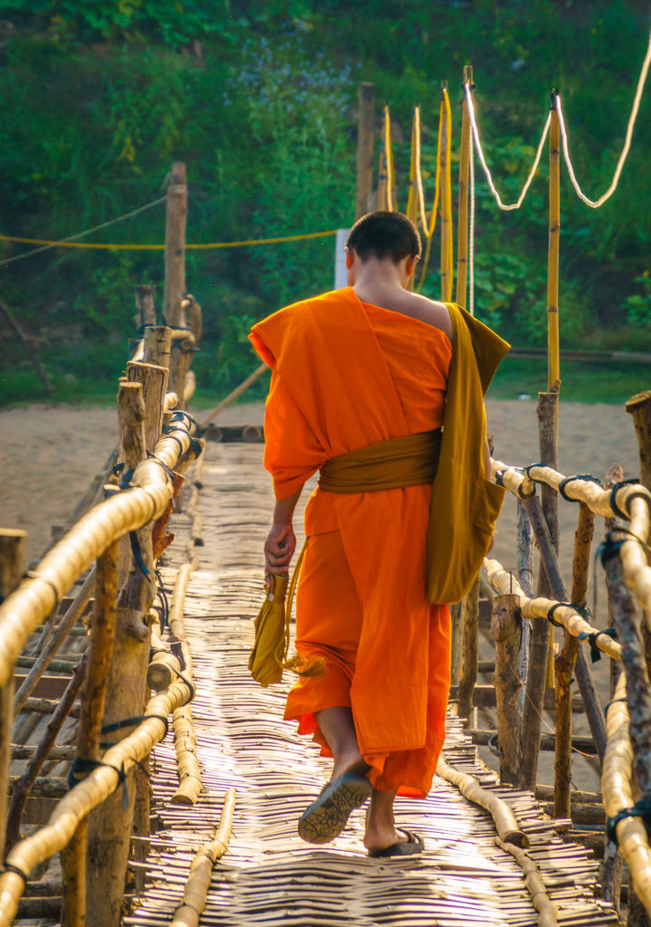
[[[364,216],[345,255],[348,286],[274,313],[250,336],[272,371],[264,464],[277,502],[265,569],[288,571],[294,508],[319,470],[295,644],[325,672],[298,680],[284,717],[333,768],[298,832],[326,843],[370,797],[369,856],[403,856],[423,842],[396,829],[394,798],[429,793],[449,690],[450,618],[428,600],[426,547],[453,324],[444,303],[407,289],[420,239],[406,216]]]

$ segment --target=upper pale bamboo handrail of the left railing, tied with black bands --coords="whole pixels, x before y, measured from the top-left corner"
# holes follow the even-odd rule
[[[32,631],[56,608],[75,580],[114,540],[163,514],[172,494],[169,471],[190,448],[185,420],[175,423],[174,430],[156,444],[156,457],[138,464],[131,476],[131,489],[85,514],[0,605],[0,686],[11,679]]]

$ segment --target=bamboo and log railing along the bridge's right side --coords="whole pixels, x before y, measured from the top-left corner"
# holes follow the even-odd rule
[[[627,404],[634,419],[643,480],[649,483],[645,462],[651,459],[651,393],[634,397]],[[604,485],[595,476],[564,476],[557,469],[542,464],[515,467],[492,461],[492,475],[518,499],[519,513],[526,515],[529,530],[519,527],[519,565],[532,563],[532,542],[538,548],[541,573],[545,575],[551,595],[533,595],[531,578],[505,569],[492,556],[484,561],[482,576],[492,597],[491,628],[495,639],[496,730],[477,731],[476,743],[497,742],[500,777],[520,787],[535,788],[535,769],[541,749],[540,730],[526,726],[521,690],[531,692],[529,677],[537,672],[546,675],[545,666],[532,661],[532,638],[522,633],[552,623],[563,631],[563,642],[556,655],[556,735],[555,785],[551,790],[553,812],[558,819],[570,819],[575,808],[582,819],[590,819],[605,828],[605,862],[603,882],[605,896],[619,908],[620,867],[613,864],[618,850],[631,873],[629,908],[634,904],[651,914],[651,848],[647,829],[651,830],[651,487],[641,482],[624,481],[621,470],[613,465]],[[578,503],[578,523],[572,560],[571,590],[565,589],[557,562],[557,552],[538,500],[538,488],[553,492],[557,500]],[[608,627],[595,627],[586,609],[587,578],[592,565],[590,547],[595,516],[605,519],[606,540],[599,554],[605,566],[608,593]],[[531,569],[529,567],[528,569]],[[526,578],[526,583],[525,583]],[[523,589],[527,586],[527,590]],[[583,643],[588,643],[593,659],[605,654],[611,662],[612,698],[606,710],[600,704],[592,682],[590,663]],[[470,660],[475,659],[472,650]],[[587,669],[584,678],[580,667]],[[571,801],[571,684],[576,677],[594,741],[594,754],[600,757],[603,806],[590,810]],[[542,687],[545,695],[545,686]],[[526,699],[525,695],[525,699]],[[459,690],[459,700],[462,693]],[[469,693],[469,704],[472,692]],[[541,697],[534,709],[542,717],[546,701]],[[485,738],[488,738],[486,740]],[[529,778],[533,768],[533,779]],[[540,789],[541,795],[550,790]],[[592,796],[591,800],[597,799]],[[586,817],[587,815],[587,817]],[[604,831],[602,830],[602,833]],[[513,843],[502,838],[502,843]],[[502,845],[502,844],[500,844]],[[521,853],[515,853],[521,865],[529,867]],[[533,870],[532,870],[533,873]],[[532,884],[536,877],[532,874]],[[633,907],[631,907],[633,899]],[[545,913],[544,913],[544,910]],[[553,918],[553,911],[543,900],[541,922]],[[630,924],[643,923],[645,914],[632,916]],[[641,918],[641,920],[640,920]],[[548,922],[552,923],[553,920]]]

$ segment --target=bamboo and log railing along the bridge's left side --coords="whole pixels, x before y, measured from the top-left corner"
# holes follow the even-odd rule
[[[22,579],[24,532],[0,531],[0,786],[5,796],[12,759],[27,764],[21,776],[12,777],[8,804],[6,797],[0,801],[5,847],[0,925],[16,916],[32,874],[60,852],[61,924],[81,927],[88,900],[94,924],[117,927],[131,828],[141,838],[149,834],[143,764],[167,733],[169,716],[179,768],[172,800],[193,804],[202,788],[189,705],[192,658],[183,624],[194,568],[190,548],[200,523],[193,528],[189,563],[182,565],[174,586],[167,631],[159,620],[164,593],[156,579],[156,561],[173,538],[167,525],[182,475],[203,448],[194,419],[172,412],[193,394],[190,366],[202,328],[200,306],[183,292],[186,211],[185,168],[176,164],[168,193],[164,296],[172,327],[156,325],[154,287],[138,287],[140,338],[119,382],[119,447],[110,462],[119,464],[104,474],[105,498],[98,498],[101,485],[90,488],[68,530]],[[180,641],[181,663],[170,652],[168,635]],[[55,660],[60,653],[65,658]],[[25,667],[27,675],[14,696],[17,667]],[[55,669],[68,674],[63,697],[34,697],[39,686],[52,685],[46,674]],[[40,743],[22,746],[47,715]],[[69,717],[79,718],[76,746],[56,743]],[[70,761],[69,785],[60,777],[39,776],[44,768]],[[60,800],[44,826],[23,838],[23,815],[34,795]],[[209,847],[207,858],[216,858],[228,843],[233,801],[231,795],[219,846]],[[144,840],[136,845],[136,858],[143,845]],[[31,910],[37,908],[33,899]]]

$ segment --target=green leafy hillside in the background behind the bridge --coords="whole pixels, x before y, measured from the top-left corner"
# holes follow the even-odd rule
[[[429,206],[441,82],[457,150],[466,63],[502,197],[518,196],[558,87],[575,170],[594,198],[620,155],[649,28],[647,5],[621,0],[0,3],[0,232],[49,240],[108,222],[162,197],[172,160],[187,164],[190,242],[345,227],[355,218],[360,81],[376,84],[378,127],[382,105],[391,108],[403,209],[420,105]],[[562,170],[564,348],[650,349],[650,96],[602,209],[582,204]],[[476,311],[519,346],[545,344],[547,173],[545,155],[523,207],[502,213],[477,169]],[[163,235],[159,204],[81,240]],[[0,241],[0,260],[31,247]],[[199,392],[223,395],[243,379],[255,364],[251,321],[332,286],[332,266],[332,237],[188,252],[206,325]],[[162,296],[162,275],[160,251],[57,248],[2,266],[0,297],[34,339],[57,399],[104,398],[125,362],[132,288],[156,283]],[[439,286],[433,268],[423,292],[438,297]],[[0,332],[8,342],[9,329]],[[498,390],[535,388],[531,365],[521,388],[519,368],[506,367]],[[620,400],[644,376],[585,368],[564,395]],[[5,350],[0,402],[41,395],[23,349]]]

